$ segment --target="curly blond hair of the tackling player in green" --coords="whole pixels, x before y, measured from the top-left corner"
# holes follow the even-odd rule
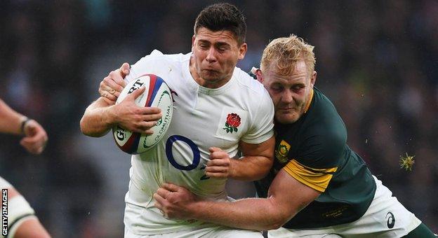
[[[296,63],[304,59],[309,75],[314,71],[316,59],[314,57],[313,45],[306,43],[303,38],[294,34],[289,37],[280,37],[272,40],[263,50],[260,69],[267,72],[271,64],[274,64],[274,70],[280,75],[291,75],[296,69]]]

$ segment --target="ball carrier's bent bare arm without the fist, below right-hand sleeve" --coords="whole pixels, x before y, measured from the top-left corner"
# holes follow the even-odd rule
[[[239,160],[231,160],[230,178],[242,181],[263,179],[274,162],[274,146],[274,137],[261,144],[241,141],[239,148],[244,156]]]

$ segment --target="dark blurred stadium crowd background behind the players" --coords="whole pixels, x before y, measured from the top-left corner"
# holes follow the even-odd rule
[[[433,230],[438,230],[438,2],[230,1],[247,18],[258,65],[271,38],[294,33],[316,46],[317,87],[336,105],[348,143]],[[84,109],[122,62],[154,48],[190,50],[194,18],[213,1],[1,1],[0,97],[48,131],[27,155],[0,136],[0,174],[53,237],[121,237],[129,156],[109,136],[85,137]],[[190,123],[190,122],[187,122]],[[399,157],[416,155],[412,172]],[[251,186],[233,183],[237,197]]]

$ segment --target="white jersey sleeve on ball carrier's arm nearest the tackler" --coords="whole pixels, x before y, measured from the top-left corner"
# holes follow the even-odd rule
[[[260,100],[254,103],[255,113],[251,116],[248,133],[241,138],[249,144],[260,144],[274,135],[274,104],[269,93],[263,89]]]

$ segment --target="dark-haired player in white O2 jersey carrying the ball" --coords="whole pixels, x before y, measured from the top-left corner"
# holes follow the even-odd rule
[[[105,97],[88,106],[81,119],[82,132],[92,137],[117,124],[150,133],[161,113],[135,106],[133,99],[144,88],[114,105],[126,82],[145,73],[164,78],[174,100],[164,139],[131,158],[125,237],[262,237],[251,230],[168,219],[154,207],[152,197],[163,183],[171,182],[208,200],[227,200],[227,178],[261,179],[272,166],[272,100],[263,85],[236,67],[246,53],[245,35],[241,12],[228,3],[214,4],[195,21],[192,52],[164,55],[154,50],[130,71],[124,64],[102,81]],[[129,71],[124,80],[121,71]],[[238,150],[243,156],[237,159]]]

